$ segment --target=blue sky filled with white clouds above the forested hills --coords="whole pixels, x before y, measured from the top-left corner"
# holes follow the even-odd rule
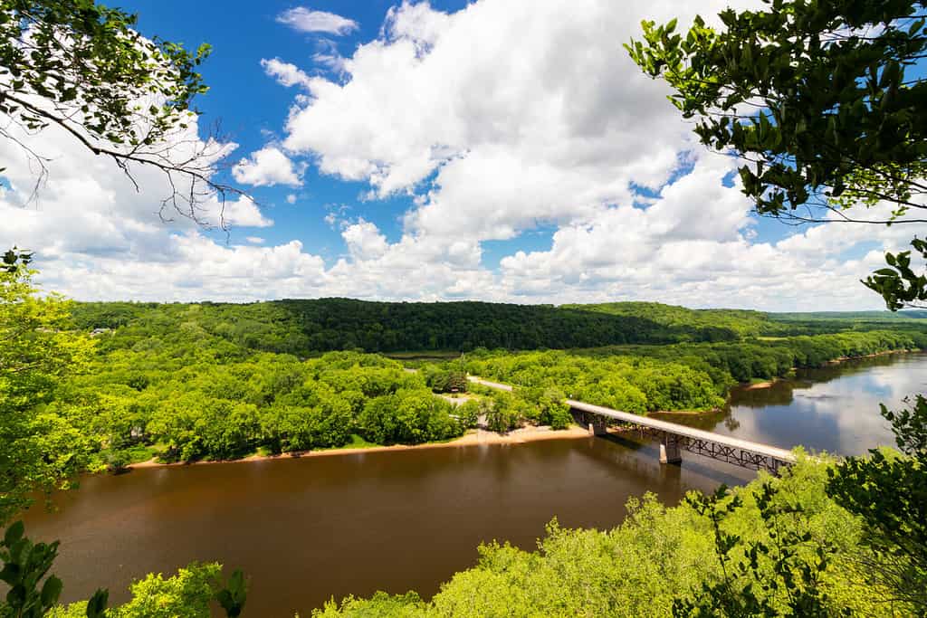
[[[860,283],[905,226],[759,219],[621,44],[673,0],[110,2],[146,36],[212,45],[188,137],[253,200],[229,230],[162,221],[134,184],[49,129],[0,143],[0,246],[78,300],[372,300],[882,309]],[[218,206],[204,219],[219,222]]]

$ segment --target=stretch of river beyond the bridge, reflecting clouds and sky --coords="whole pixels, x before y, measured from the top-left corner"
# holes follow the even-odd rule
[[[879,404],[927,391],[927,354],[859,359],[803,370],[768,388],[738,388],[724,410],[661,418],[718,434],[792,448],[857,455],[894,437]]]

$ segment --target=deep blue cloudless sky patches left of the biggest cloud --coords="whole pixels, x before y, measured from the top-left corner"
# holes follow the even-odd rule
[[[466,2],[433,2],[440,10],[454,11]],[[222,121],[222,128],[240,145],[239,154],[260,149],[267,135],[281,135],[293,93],[269,78],[260,66],[261,58],[280,57],[310,73],[337,79],[330,69],[314,63],[312,56],[335,44],[337,51],[349,56],[358,44],[379,35],[392,0],[357,2],[313,2],[311,10],[324,11],[352,19],[356,30],[343,35],[328,32],[297,32],[276,21],[293,3],[243,2],[228,0],[217,10],[213,3],[178,0],[133,0],[112,3],[138,16],[139,30],[148,36],[183,43],[189,49],[209,43],[213,50],[202,74],[210,86],[207,95],[197,98],[197,107],[206,119]],[[183,15],[184,19],[178,19]],[[400,217],[410,207],[406,197],[377,200],[363,204],[359,199],[367,190],[365,183],[345,182],[320,175],[311,167],[305,186],[296,191],[286,187],[256,187],[250,191],[261,206],[270,208],[276,222],[260,235],[269,243],[286,242],[296,236],[313,252],[333,261],[345,251],[337,229],[324,222],[332,208],[349,206],[354,216],[362,215],[374,222],[391,241],[401,234]],[[286,204],[286,195],[297,195],[296,208]],[[217,237],[220,237],[217,235]],[[550,234],[547,236],[548,242]],[[537,235],[526,239],[526,246],[537,246]],[[490,258],[491,260],[491,258]],[[498,261],[498,258],[495,260]]]

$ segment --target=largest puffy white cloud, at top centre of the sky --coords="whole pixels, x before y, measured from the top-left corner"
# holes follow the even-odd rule
[[[482,0],[446,14],[404,3],[382,38],[345,58],[348,80],[309,82],[285,145],[374,195],[419,193],[410,230],[507,238],[588,216],[629,200],[630,183],[665,183],[692,144],[665,85],[616,44],[638,33],[636,16],[680,10]]]

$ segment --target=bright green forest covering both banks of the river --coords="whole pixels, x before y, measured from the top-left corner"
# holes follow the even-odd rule
[[[625,309],[610,305],[610,313],[569,309],[567,315],[575,311],[608,321],[622,341],[639,343],[535,350],[476,347],[401,362],[357,348],[307,349],[305,342],[313,334],[302,331],[297,334],[309,337],[298,339],[303,343],[289,352],[275,351],[286,347],[287,333],[296,323],[286,320],[286,312],[275,303],[81,304],[40,295],[33,274],[15,264],[0,271],[0,330],[7,341],[0,348],[0,432],[5,436],[0,460],[10,464],[0,479],[0,518],[6,521],[32,502],[35,489],[68,488],[80,473],[119,473],[134,461],[229,460],[255,453],[413,445],[453,439],[477,423],[497,432],[526,423],[559,429],[573,421],[566,397],[641,414],[712,410],[723,405],[730,386],[739,382],[835,359],[927,347],[927,332],[918,320],[827,316],[777,322],[754,312],[708,311],[699,313],[700,322],[686,330],[678,322],[689,309],[632,305],[627,310],[641,316],[625,316],[620,314]],[[307,301],[322,307],[327,302]],[[447,305],[451,312],[461,309]],[[462,328],[444,322],[447,315],[438,320],[436,305],[401,307],[417,316],[420,330]],[[518,306],[502,307],[502,314],[520,324],[535,316],[535,309],[519,313]],[[542,310],[555,315],[561,309]],[[427,315],[437,321],[433,327],[422,322]],[[476,313],[468,319],[476,320]],[[587,328],[603,322],[570,323]],[[639,336],[635,329],[641,324],[645,330]],[[349,331],[334,316],[329,325],[331,333]],[[592,337],[594,330],[583,333]],[[692,333],[724,337],[693,339]],[[654,338],[666,343],[656,345]],[[460,403],[454,396],[470,390],[468,372],[513,384],[514,392],[476,388]],[[919,398],[916,410],[921,416],[927,413],[927,401]],[[892,423],[914,423],[917,428],[912,419],[919,417],[913,413],[883,414]],[[916,455],[921,452],[918,440],[927,438],[914,433],[904,438],[907,442],[899,438],[899,447]],[[917,579],[921,554],[899,557],[871,539],[918,538],[921,465],[895,451],[843,462],[803,459],[781,478],[761,475],[746,487],[710,499],[693,495],[678,507],[667,508],[646,496],[632,501],[627,521],[611,531],[565,530],[552,522],[538,552],[489,544],[480,549],[476,567],[456,574],[434,599],[409,593],[333,600],[315,615],[667,615],[741,589],[756,590],[747,599],[751,607],[767,608],[768,615],[806,604],[819,607],[817,615],[848,609],[888,616],[895,615],[893,607],[904,613],[921,600],[893,596],[898,584],[891,569],[914,568],[905,576]],[[901,481],[867,485],[865,478],[873,473]],[[914,493],[884,493],[895,492],[899,484]],[[873,492],[879,495],[873,498]],[[902,503],[895,504],[899,499]],[[867,505],[873,500],[901,514],[883,507],[871,511]],[[880,531],[880,525],[889,527]],[[13,582],[25,578],[37,586],[57,546],[33,545],[22,535],[21,526],[14,525],[0,542],[0,559],[23,574],[7,570],[5,577]],[[27,555],[43,558],[36,566],[22,561]],[[886,562],[880,579],[860,577],[859,564]],[[735,567],[730,573],[725,571],[729,563]],[[49,592],[33,590],[34,602],[57,598],[55,586],[48,584],[54,580],[44,581],[51,586]],[[164,608],[187,608],[189,615],[200,616],[209,613],[215,599],[235,609],[245,599],[244,581],[233,574],[226,583],[215,563],[190,564],[169,576],[149,574],[133,584],[129,602],[106,615],[140,618]],[[769,581],[780,583],[773,588],[756,584]],[[28,590],[22,587],[26,584],[17,586]],[[700,586],[716,587],[700,592]],[[783,594],[789,586],[794,592]],[[743,599],[734,595],[729,600]],[[104,601],[97,595],[46,609],[61,618],[102,616],[96,608]]]

